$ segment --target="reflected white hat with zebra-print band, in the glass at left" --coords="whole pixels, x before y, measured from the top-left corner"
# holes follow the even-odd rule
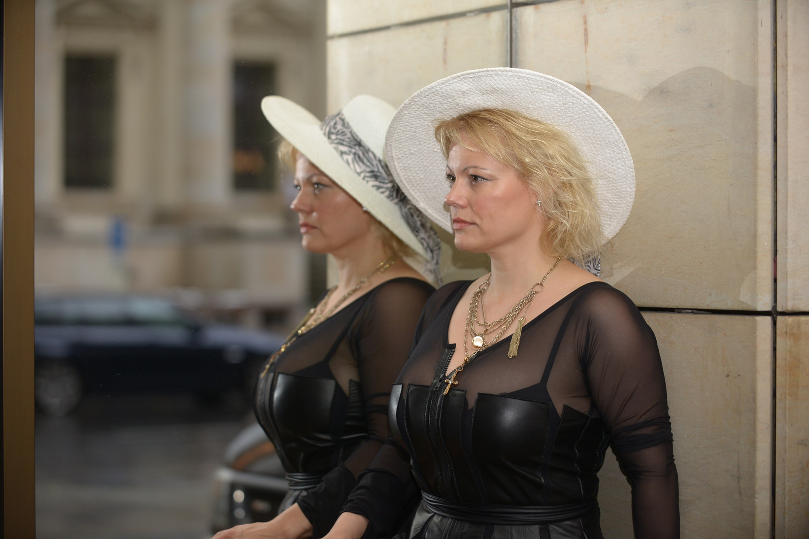
[[[394,107],[358,95],[321,122],[290,99],[269,95],[261,100],[261,111],[295,149],[419,255],[424,267],[416,269],[440,281],[438,235],[404,196],[384,161],[385,132]]]

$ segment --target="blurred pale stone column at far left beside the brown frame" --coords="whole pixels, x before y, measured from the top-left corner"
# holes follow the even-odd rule
[[[49,206],[61,193],[59,129],[61,110],[57,74],[56,2],[36,0],[36,65],[34,66],[34,194],[36,205]]]

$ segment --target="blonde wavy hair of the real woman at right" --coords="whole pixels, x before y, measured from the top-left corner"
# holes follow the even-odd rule
[[[452,145],[479,150],[510,166],[542,200],[546,254],[586,262],[601,252],[595,189],[584,159],[561,129],[519,112],[485,108],[435,124],[447,158]]]

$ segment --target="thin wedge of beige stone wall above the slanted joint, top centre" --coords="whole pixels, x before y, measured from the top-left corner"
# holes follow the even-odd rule
[[[442,15],[468,13],[493,6],[506,6],[502,0],[328,0],[328,35],[335,36],[369,28],[409,23]]]

